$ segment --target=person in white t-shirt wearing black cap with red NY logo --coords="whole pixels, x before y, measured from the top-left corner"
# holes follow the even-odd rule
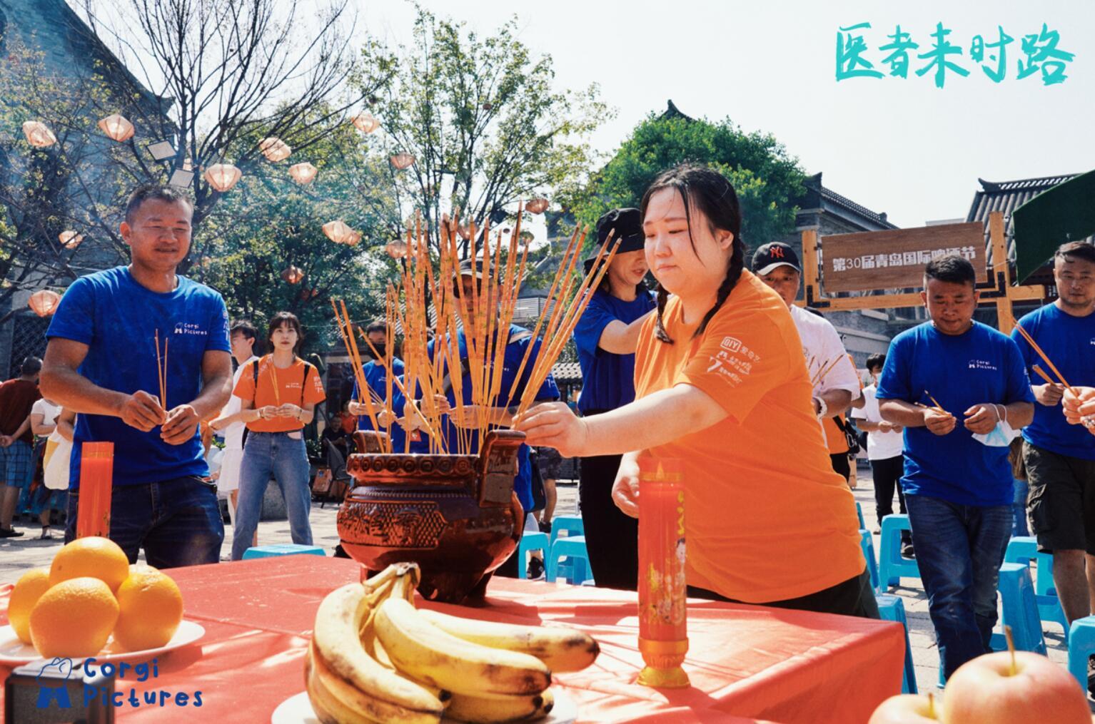
[[[860,397],[860,375],[840,341],[840,334],[819,313],[795,305],[803,270],[798,255],[782,242],[764,244],[752,259],[753,273],[775,290],[791,310],[791,318],[803,342],[806,367],[814,381],[814,413],[821,422],[829,445],[832,469],[848,480],[851,463],[848,442],[840,429],[842,416]]]

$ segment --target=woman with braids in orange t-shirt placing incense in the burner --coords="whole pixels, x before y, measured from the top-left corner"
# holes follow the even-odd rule
[[[612,495],[633,516],[638,457],[683,460],[690,595],[877,618],[855,501],[830,465],[798,332],[744,270],[734,187],[677,166],[642,211],[658,311],[639,336],[635,401],[589,418],[541,405],[517,429],[567,457],[624,454]]]

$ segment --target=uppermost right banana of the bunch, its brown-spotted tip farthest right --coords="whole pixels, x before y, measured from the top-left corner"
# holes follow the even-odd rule
[[[579,672],[592,664],[600,653],[600,646],[592,637],[574,629],[479,621],[427,609],[418,614],[458,639],[492,649],[531,654],[556,674]]]

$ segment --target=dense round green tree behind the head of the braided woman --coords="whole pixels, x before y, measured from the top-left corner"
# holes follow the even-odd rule
[[[655,114],[635,127],[589,187],[573,199],[576,220],[592,227],[609,209],[637,207],[659,173],[685,161],[717,168],[734,184],[742,209],[741,235],[750,248],[794,231],[793,202],[803,192],[805,174],[774,137],[746,133],[729,119]]]

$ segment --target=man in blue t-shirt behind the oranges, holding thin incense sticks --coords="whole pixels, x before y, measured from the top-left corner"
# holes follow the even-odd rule
[[[142,186],[119,232],[130,264],[72,282],[46,337],[43,393],[78,412],[66,541],[76,536],[81,443],[114,443],[111,539],[130,562],[220,560],[217,487],[198,425],[228,401],[228,312],[214,290],[175,273],[191,247],[194,206],[169,186]]]

